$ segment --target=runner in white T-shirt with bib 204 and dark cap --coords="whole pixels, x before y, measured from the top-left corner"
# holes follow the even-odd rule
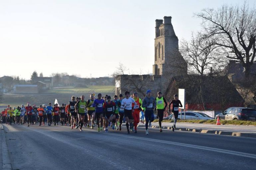
[[[127,128],[127,133],[130,134],[130,130],[129,130],[129,124],[132,124],[132,112],[133,107],[132,107],[132,103],[134,103],[136,106],[136,102],[134,101],[133,98],[130,97],[130,92],[126,91],[125,92],[125,98],[122,100],[121,103],[121,108],[124,109],[124,117],[125,117],[125,121],[126,121],[126,128]],[[119,127],[120,128],[120,127]]]

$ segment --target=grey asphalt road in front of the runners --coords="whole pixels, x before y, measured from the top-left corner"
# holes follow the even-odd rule
[[[127,134],[4,124],[13,169],[256,169],[255,138],[139,128]]]

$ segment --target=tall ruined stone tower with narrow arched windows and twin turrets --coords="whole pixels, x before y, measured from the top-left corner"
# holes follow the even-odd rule
[[[187,74],[188,66],[179,52],[179,39],[176,36],[172,17],[156,20],[155,27],[155,56],[153,75],[162,76],[162,92],[165,92],[170,80],[174,76]]]

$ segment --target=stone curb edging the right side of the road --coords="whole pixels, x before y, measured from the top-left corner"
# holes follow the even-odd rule
[[[138,127],[144,127],[139,125]],[[152,126],[151,128],[160,128],[159,126]],[[162,129],[172,129],[172,127],[162,127]],[[176,128],[176,131],[186,131],[186,132],[197,132],[203,134],[215,134],[215,135],[226,135],[226,136],[239,136],[239,137],[249,137],[256,138],[256,134],[252,133],[241,133],[241,132],[226,132],[226,131],[217,131],[217,130],[207,130],[207,129],[190,129],[190,128]]]

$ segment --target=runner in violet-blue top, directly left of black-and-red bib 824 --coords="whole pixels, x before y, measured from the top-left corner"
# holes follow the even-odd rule
[[[93,107],[96,107],[95,115],[97,119],[98,132],[102,130],[103,125],[103,104],[104,100],[101,99],[101,93],[98,94],[98,98],[93,101]],[[100,122],[100,125],[99,125]]]

